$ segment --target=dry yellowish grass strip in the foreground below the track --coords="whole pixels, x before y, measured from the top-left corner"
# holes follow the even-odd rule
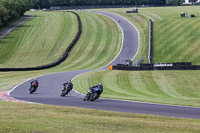
[[[0,132],[200,132],[200,121],[72,107],[1,102]]]

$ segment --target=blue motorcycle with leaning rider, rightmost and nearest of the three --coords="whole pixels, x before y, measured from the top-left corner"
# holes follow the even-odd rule
[[[101,93],[102,93],[102,90],[100,88],[90,89],[87,92],[87,94],[86,94],[85,98],[83,99],[83,101],[86,101],[86,100],[94,101],[94,100],[96,100],[96,99],[98,99],[100,97]]]

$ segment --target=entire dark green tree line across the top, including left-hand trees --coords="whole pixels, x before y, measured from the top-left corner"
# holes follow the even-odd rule
[[[197,0],[189,0],[195,3]],[[50,8],[51,6],[96,6],[96,5],[182,5],[185,0],[0,0],[0,26],[7,21],[22,16],[30,8]]]

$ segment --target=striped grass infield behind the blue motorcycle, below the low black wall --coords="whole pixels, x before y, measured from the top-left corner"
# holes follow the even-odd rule
[[[200,107],[200,71],[98,71],[84,73],[74,88],[86,93],[103,83],[102,97]],[[84,88],[83,88],[84,86]]]

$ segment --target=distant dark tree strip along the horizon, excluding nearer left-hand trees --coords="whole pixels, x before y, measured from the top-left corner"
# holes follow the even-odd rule
[[[185,0],[32,0],[34,8],[49,8],[51,6],[103,6],[103,5],[151,5],[174,6],[182,5]],[[197,0],[189,0],[196,2]]]

